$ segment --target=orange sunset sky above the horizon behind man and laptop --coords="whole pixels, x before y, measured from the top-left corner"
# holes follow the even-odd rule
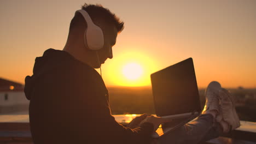
[[[150,74],[192,57],[199,87],[216,80],[223,87],[256,88],[253,0],[2,0],[0,77],[24,83],[36,57],[62,50],[74,12],[85,2],[102,4],[125,22],[113,59],[102,65],[106,86],[150,86]],[[136,80],[124,73],[132,63],[140,65]]]

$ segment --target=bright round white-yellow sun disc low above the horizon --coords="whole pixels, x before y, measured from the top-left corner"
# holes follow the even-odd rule
[[[128,63],[123,67],[123,75],[126,79],[134,81],[138,80],[143,74],[143,69],[138,63]]]

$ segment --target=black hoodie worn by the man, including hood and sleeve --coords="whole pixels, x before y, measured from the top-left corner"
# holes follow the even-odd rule
[[[101,76],[69,53],[49,49],[25,79],[34,143],[149,143],[153,124],[130,129],[111,115]]]

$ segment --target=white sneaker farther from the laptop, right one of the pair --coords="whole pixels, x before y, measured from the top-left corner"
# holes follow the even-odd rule
[[[240,127],[240,120],[235,109],[234,97],[224,88],[219,91],[220,111],[216,119],[222,119],[231,126],[231,130]],[[221,121],[220,121],[221,122]]]

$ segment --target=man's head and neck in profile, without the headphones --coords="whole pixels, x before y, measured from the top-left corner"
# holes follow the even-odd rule
[[[87,63],[93,68],[99,68],[107,58],[113,57],[112,46],[115,44],[117,34],[124,28],[124,22],[121,22],[117,16],[101,5],[84,4],[82,9],[89,14],[92,22],[102,29],[104,45],[102,49],[97,51],[89,49],[87,41],[84,40],[88,23],[81,13],[75,13],[70,23],[68,40],[64,50],[71,53],[79,61]]]

